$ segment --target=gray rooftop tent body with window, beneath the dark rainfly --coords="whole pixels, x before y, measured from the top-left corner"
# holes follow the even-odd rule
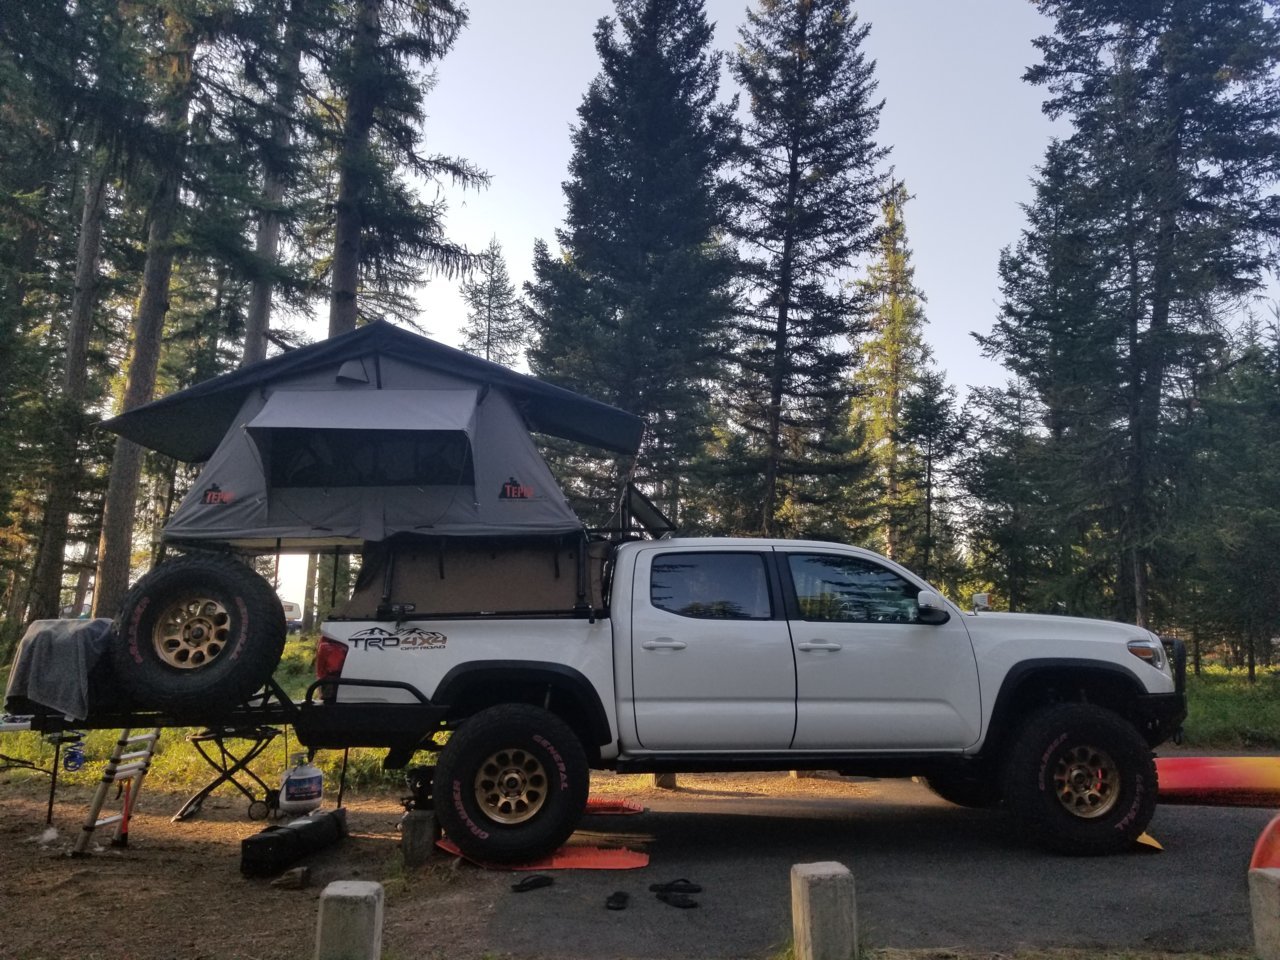
[[[246,550],[581,530],[504,389],[381,357],[242,402],[164,539]],[[381,384],[379,389],[378,384]]]

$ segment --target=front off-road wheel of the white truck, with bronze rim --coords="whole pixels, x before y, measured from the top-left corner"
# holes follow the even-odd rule
[[[1029,841],[1097,856],[1133,847],[1156,810],[1156,762],[1123,717],[1092,704],[1033,714],[1005,765],[1005,803]]]

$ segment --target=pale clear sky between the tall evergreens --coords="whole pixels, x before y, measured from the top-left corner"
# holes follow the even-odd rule
[[[426,150],[488,170],[481,192],[445,189],[451,238],[474,250],[497,237],[517,292],[531,279],[536,238],[556,250],[564,216],[561,183],[570,129],[599,70],[593,33],[612,0],[472,0],[470,24],[438,64],[426,97]],[[1051,32],[1029,0],[854,0],[870,24],[865,51],[877,63],[879,142],[914,200],[906,207],[916,285],[927,297],[927,340],[964,396],[1005,380],[970,332],[996,316],[1002,247],[1018,239],[1020,204],[1052,123],[1043,91],[1021,81],[1037,61],[1032,40]],[[745,0],[708,0],[716,46],[731,51]],[[726,77],[722,99],[733,92]],[[433,279],[424,328],[460,343],[466,308],[458,282]]]

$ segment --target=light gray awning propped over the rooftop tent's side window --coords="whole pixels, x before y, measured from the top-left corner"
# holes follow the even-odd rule
[[[253,417],[262,430],[461,430],[475,435],[475,390],[276,390]]]

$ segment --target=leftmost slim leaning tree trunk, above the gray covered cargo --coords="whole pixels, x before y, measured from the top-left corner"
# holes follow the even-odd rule
[[[72,294],[70,321],[67,330],[63,396],[58,404],[58,431],[51,451],[52,476],[45,498],[44,536],[32,575],[31,605],[27,611],[31,620],[56,617],[61,608],[67,526],[76,507],[81,476],[78,445],[84,419],[88,340],[93,326],[93,308],[97,305],[106,180],[105,164],[90,169],[81,214],[79,246],[76,253],[76,289]]]

